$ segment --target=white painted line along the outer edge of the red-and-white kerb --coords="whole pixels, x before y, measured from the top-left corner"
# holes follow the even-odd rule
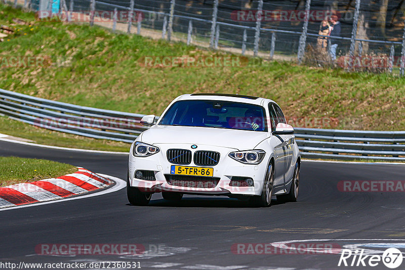
[[[125,181],[121,178],[111,176],[108,174],[102,174],[102,173],[97,173],[97,174],[100,174],[103,177],[112,179],[116,183],[115,186],[113,186],[111,188],[107,188],[107,189],[99,191],[99,192],[92,193],[92,194],[81,195],[81,196],[77,196],[77,197],[73,197],[73,198],[58,199],[58,200],[53,200],[53,201],[41,202],[41,203],[32,203],[32,204],[26,204],[26,205],[12,206],[12,207],[8,207],[8,208],[2,208],[2,209],[0,209],[0,211],[13,210],[13,209],[19,209],[19,208],[25,208],[25,207],[31,207],[31,206],[39,206],[39,205],[50,204],[50,203],[65,202],[65,201],[84,199],[84,198],[89,198],[89,197],[94,197],[94,196],[100,196],[100,195],[115,192],[115,191],[118,191],[118,190],[121,190],[121,189],[124,189],[127,187],[127,181]]]

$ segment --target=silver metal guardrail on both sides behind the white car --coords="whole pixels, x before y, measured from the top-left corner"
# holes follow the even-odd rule
[[[142,114],[102,110],[0,89],[0,113],[56,131],[132,143]],[[405,161],[405,131],[295,128],[302,157]]]

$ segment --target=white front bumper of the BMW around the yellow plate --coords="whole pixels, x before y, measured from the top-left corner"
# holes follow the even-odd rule
[[[229,153],[237,151],[237,149],[204,146],[198,147],[198,150],[216,151],[220,153],[220,160],[215,166],[199,166],[195,165],[193,161],[188,165],[179,166],[189,166],[189,167],[210,167],[214,169],[214,175],[212,177],[203,176],[192,176],[189,178],[195,179],[195,181],[211,181],[212,179],[217,179],[217,185],[215,187],[197,187],[200,185],[193,185],[192,187],[188,185],[171,185],[168,179],[171,174],[171,166],[177,165],[170,163],[167,160],[166,152],[168,149],[190,149],[192,154],[194,151],[190,148],[191,145],[172,145],[172,144],[154,144],[153,146],[158,147],[160,152],[148,156],[148,157],[135,157],[132,155],[132,147],[129,157],[129,182],[132,187],[137,187],[141,191],[146,192],[181,192],[181,193],[194,193],[194,194],[206,194],[206,195],[260,195],[263,187],[263,181],[267,169],[268,159],[265,156],[262,162],[258,165],[250,165],[240,163],[228,156]],[[137,170],[148,170],[153,171],[154,181],[147,181],[143,179],[138,179],[135,177],[135,172]],[[254,182],[253,187],[235,187],[230,186],[231,179],[233,176],[252,178]],[[198,179],[197,179],[198,178]],[[204,186],[204,185],[203,185]]]

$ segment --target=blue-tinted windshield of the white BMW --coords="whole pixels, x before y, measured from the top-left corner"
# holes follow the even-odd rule
[[[267,131],[262,106],[216,100],[184,100],[174,103],[159,125],[203,126]]]

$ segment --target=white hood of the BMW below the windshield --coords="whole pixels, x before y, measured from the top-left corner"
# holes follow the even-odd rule
[[[147,144],[196,144],[237,150],[254,149],[269,134],[262,131],[214,127],[153,125],[141,135]]]

